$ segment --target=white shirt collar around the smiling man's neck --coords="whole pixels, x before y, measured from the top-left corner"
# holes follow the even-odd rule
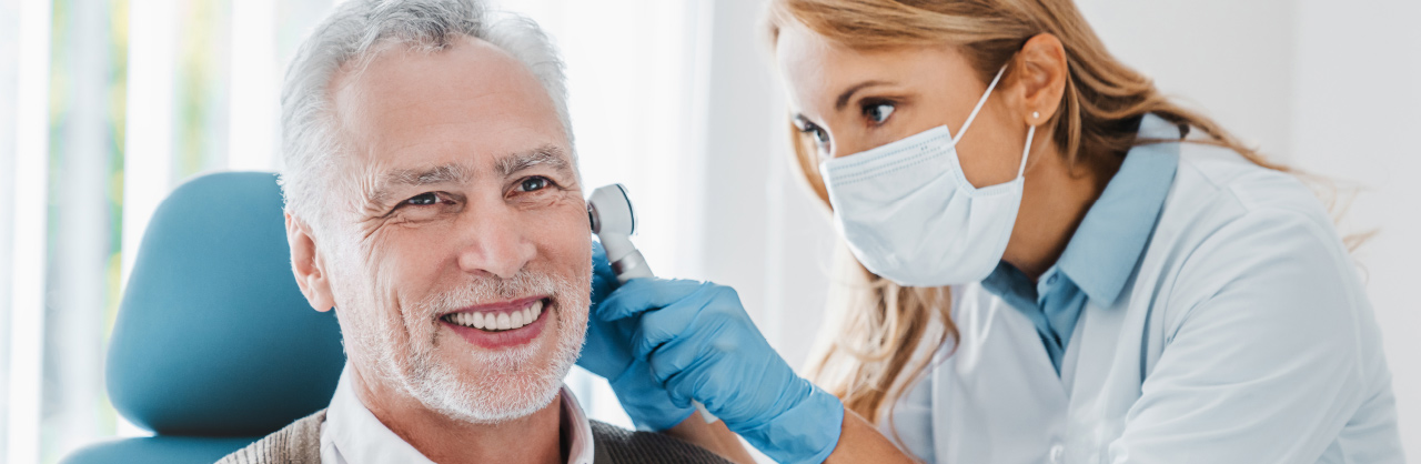
[[[433,464],[428,457],[405,443],[385,424],[375,419],[375,414],[360,402],[350,380],[351,368],[347,363],[341,372],[340,385],[335,386],[335,396],[325,410],[325,421],[321,423],[321,463],[324,464],[377,464],[377,463],[412,463]],[[567,464],[593,463],[593,424],[583,413],[583,406],[577,403],[573,390],[564,385],[560,394],[563,404],[563,430],[571,431]]]

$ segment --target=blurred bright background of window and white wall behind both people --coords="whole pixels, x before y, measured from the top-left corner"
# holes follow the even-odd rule
[[[1340,187],[1421,458],[1421,1],[1079,0],[1106,44]],[[503,0],[561,45],[588,186],[621,182],[668,277],[713,280],[804,362],[834,245],[787,162],[762,0]],[[145,430],[104,389],[144,227],[215,170],[279,170],[287,60],[333,0],[0,0],[0,460]],[[1340,209],[1340,210],[1343,210]],[[568,383],[630,424],[605,382]]]

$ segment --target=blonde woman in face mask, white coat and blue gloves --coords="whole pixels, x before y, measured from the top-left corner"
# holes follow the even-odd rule
[[[726,287],[612,291],[580,363],[638,426],[699,400],[786,463],[1403,463],[1327,210],[1071,1],[770,9],[799,166],[857,263],[813,382]]]

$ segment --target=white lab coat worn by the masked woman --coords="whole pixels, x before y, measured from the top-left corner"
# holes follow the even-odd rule
[[[936,463],[1404,463],[1377,322],[1317,197],[1228,149],[1155,149],[1179,167],[1154,237],[1118,301],[1081,311],[1060,376],[1025,315],[953,288],[961,342],[925,386]]]

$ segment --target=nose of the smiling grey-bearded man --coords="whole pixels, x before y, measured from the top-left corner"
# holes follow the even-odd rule
[[[537,254],[517,213],[502,201],[473,207],[459,223],[465,243],[459,268],[465,272],[512,278]]]

